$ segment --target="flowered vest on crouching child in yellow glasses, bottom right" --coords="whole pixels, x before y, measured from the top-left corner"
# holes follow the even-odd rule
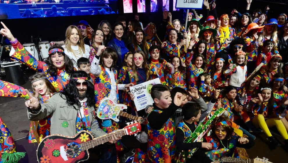
[[[218,149],[222,142],[212,136],[206,137],[207,143],[212,144],[212,150],[207,152],[207,156],[210,157],[211,160],[215,158],[216,161],[219,161],[222,156],[239,157],[236,149],[238,138],[239,136],[233,132],[229,144],[222,144],[224,148]]]

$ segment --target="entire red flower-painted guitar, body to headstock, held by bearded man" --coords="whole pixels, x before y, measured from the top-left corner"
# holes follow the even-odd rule
[[[132,135],[141,131],[140,123],[132,123],[123,129],[93,139],[92,134],[80,131],[69,137],[53,134],[45,137],[37,148],[37,160],[39,163],[74,163],[88,160],[88,149],[112,140],[112,134],[118,136]]]

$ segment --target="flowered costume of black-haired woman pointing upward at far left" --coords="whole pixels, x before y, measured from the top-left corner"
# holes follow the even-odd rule
[[[43,61],[39,61],[34,58],[24,47],[23,45],[17,41],[16,44],[12,44],[15,49],[15,53],[11,56],[17,61],[26,64],[29,68],[43,72],[47,75],[47,79],[54,86],[56,91],[63,91],[63,88],[69,83],[70,75],[65,71],[65,69],[58,69],[56,76],[51,76],[49,74],[49,67],[47,63]]]

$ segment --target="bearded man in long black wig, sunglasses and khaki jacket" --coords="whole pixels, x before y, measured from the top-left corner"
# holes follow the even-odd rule
[[[51,134],[73,136],[81,130],[92,133],[93,137],[99,137],[106,133],[99,127],[95,115],[95,98],[93,84],[90,76],[85,71],[75,71],[70,76],[70,81],[61,93],[55,93],[44,104],[39,103],[38,90],[35,97],[29,93],[30,100],[25,102],[28,108],[30,121],[41,120],[51,114]],[[113,135],[110,143],[116,143],[121,137]],[[116,156],[105,160],[105,153],[113,149],[113,145],[101,147],[103,157],[100,162],[116,162]]]

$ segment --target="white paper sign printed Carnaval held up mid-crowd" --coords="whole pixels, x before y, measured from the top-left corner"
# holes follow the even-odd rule
[[[152,105],[154,103],[150,93],[152,86],[155,84],[161,84],[159,78],[130,87],[131,93],[135,96],[134,104],[137,111],[142,110],[148,105]]]

